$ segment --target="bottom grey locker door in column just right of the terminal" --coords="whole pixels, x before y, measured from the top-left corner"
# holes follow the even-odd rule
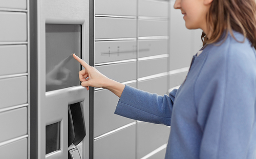
[[[136,157],[136,126],[125,128],[94,142],[95,159]]]

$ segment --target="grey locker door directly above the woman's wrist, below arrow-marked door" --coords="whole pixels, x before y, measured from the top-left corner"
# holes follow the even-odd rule
[[[136,79],[136,62],[96,66],[95,68],[103,75],[118,82]]]

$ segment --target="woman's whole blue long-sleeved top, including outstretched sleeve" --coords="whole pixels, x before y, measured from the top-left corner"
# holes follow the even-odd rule
[[[171,126],[165,158],[256,158],[255,51],[230,34],[221,42],[194,56],[169,96],[123,90],[116,114]]]

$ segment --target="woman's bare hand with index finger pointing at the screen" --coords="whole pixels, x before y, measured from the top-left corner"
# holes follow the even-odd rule
[[[104,76],[98,70],[88,65],[75,54],[73,54],[73,57],[84,67],[84,70],[79,72],[79,79],[82,82],[82,86],[86,87],[87,90],[89,90],[89,86],[106,88],[118,97],[121,96],[123,89],[125,87],[124,84],[116,82]]]

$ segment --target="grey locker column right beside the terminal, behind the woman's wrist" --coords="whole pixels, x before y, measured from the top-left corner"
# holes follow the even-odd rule
[[[132,86],[136,84],[136,4],[137,0],[95,0],[92,64],[107,77]],[[114,115],[118,97],[109,90],[95,88],[93,98],[93,157],[135,158],[136,121]]]

